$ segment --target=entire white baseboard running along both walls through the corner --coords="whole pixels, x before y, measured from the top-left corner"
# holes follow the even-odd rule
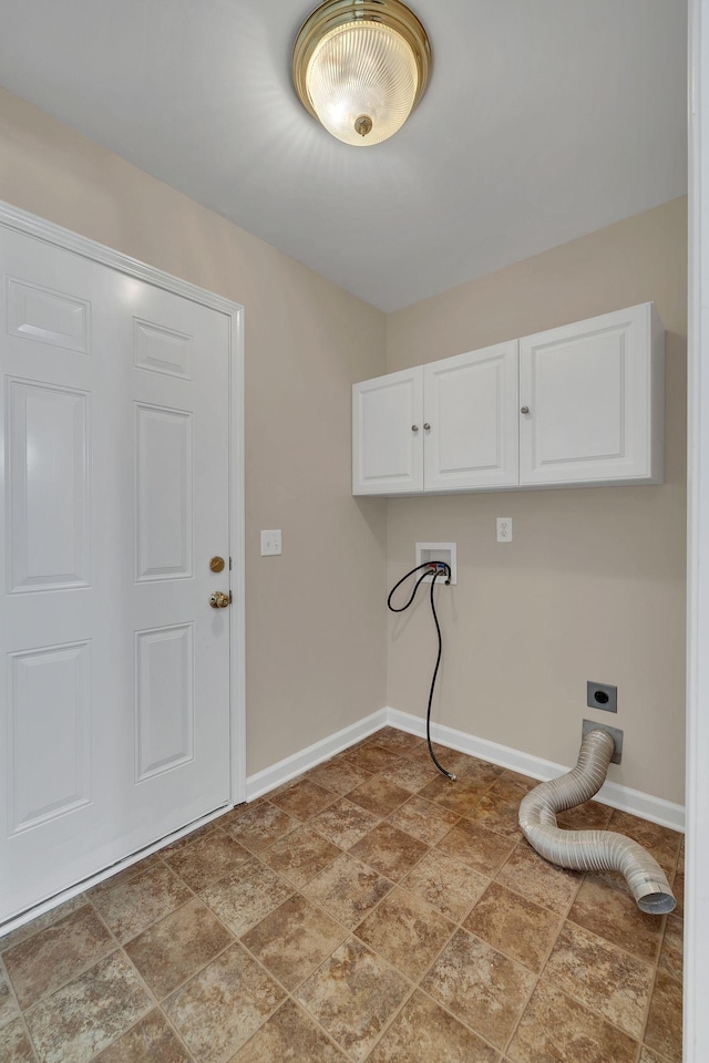
[[[425,736],[425,720],[420,716],[412,716],[408,712],[400,712],[398,709],[380,709],[349,727],[336,731],[329,737],[321,739],[320,742],[300,750],[299,753],[294,753],[292,756],[278,761],[277,764],[264,768],[263,772],[249,775],[246,780],[246,799],[254,801],[277,786],[282,786],[284,783],[295,778],[296,775],[321,764],[322,761],[329,760],[336,753],[341,753],[342,750],[354,745],[356,742],[360,742],[386,725],[398,727],[400,731],[408,731],[409,734],[415,734],[420,737]],[[514,750],[508,745],[490,742],[487,739],[479,739],[474,734],[456,731],[454,727],[446,727],[441,723],[431,724],[431,737],[434,742],[439,742],[450,750],[477,756],[482,761],[489,761],[491,764],[500,765],[500,767],[508,767],[513,772],[520,772],[522,775],[530,775],[532,778],[538,778],[543,782],[563,775],[571,767],[571,765],[566,766],[555,764],[553,761],[545,761],[541,756],[533,756],[531,753],[523,753],[521,750]],[[671,827],[672,830],[685,829],[685,808],[682,805],[675,805],[661,797],[654,797],[651,794],[630,789],[629,786],[606,782],[598,791],[596,799],[604,805],[610,805],[610,807],[619,808],[621,812],[629,812],[634,816],[649,819],[651,823]]]

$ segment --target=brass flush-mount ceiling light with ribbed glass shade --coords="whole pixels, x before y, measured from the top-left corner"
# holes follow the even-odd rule
[[[381,144],[425,92],[431,45],[400,0],[326,0],[292,49],[302,105],[345,144]]]

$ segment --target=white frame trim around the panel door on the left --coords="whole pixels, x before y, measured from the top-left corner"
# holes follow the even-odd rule
[[[245,683],[245,540],[244,540],[244,307],[198,288],[179,277],[147,266],[129,255],[54,225],[0,200],[0,225],[74,251],[129,277],[224,313],[229,321],[229,549],[232,557],[229,721],[230,797],[246,798],[246,683]]]

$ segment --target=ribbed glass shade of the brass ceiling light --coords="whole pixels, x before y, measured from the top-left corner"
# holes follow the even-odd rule
[[[419,72],[411,47],[395,30],[380,22],[350,22],[322,38],[308,64],[306,87],[332,136],[367,147],[407,121]]]

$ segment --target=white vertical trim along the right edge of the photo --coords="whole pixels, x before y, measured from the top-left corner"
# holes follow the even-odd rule
[[[689,4],[686,1063],[709,1051],[709,0]],[[703,414],[703,417],[702,417]]]

